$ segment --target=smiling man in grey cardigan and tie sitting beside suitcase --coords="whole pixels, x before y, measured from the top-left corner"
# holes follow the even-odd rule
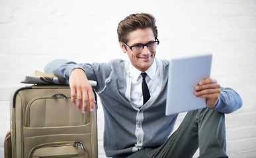
[[[145,13],[127,16],[118,24],[118,39],[130,61],[76,64],[56,60],[45,68],[69,78],[71,101],[83,113],[88,103],[93,111],[88,79],[97,81],[95,91],[105,113],[107,157],[192,157],[198,147],[200,157],[227,157],[224,113],[241,107],[239,95],[212,78],[198,81],[194,95],[206,98],[207,107],[187,113],[169,137],[177,115],[165,116],[169,61],[155,59],[159,44],[155,18]],[[145,81],[149,99],[142,92]]]

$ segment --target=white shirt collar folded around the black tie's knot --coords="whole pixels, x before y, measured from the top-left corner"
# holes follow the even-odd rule
[[[151,80],[155,76],[156,69],[157,69],[157,65],[154,60],[153,64],[148,68],[148,70],[146,70],[146,73],[148,74]],[[135,80],[138,80],[138,78],[140,77],[140,74],[142,73],[140,70],[135,68],[131,63],[129,63],[129,72],[130,72],[130,76],[132,76],[132,78],[134,78]]]

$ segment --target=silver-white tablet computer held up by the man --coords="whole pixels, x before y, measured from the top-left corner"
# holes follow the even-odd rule
[[[206,107],[206,100],[194,95],[194,86],[210,77],[211,66],[212,53],[171,59],[165,115]]]

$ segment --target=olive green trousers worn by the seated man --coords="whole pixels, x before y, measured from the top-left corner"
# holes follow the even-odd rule
[[[189,111],[165,144],[146,147],[128,158],[189,158],[198,147],[200,158],[228,157],[224,113],[208,108]]]

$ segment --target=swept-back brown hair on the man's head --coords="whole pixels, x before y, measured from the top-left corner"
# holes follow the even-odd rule
[[[151,28],[155,38],[157,38],[157,26],[155,26],[155,17],[148,13],[136,13],[130,14],[124,18],[124,20],[119,22],[117,28],[118,40],[127,43],[128,34],[139,28]]]

